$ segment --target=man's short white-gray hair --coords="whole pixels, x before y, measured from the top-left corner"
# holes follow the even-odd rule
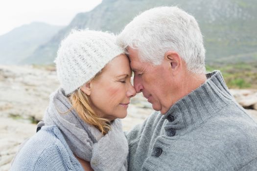
[[[140,61],[159,65],[169,50],[179,53],[187,70],[205,73],[203,36],[195,18],[178,7],[144,11],[125,26],[117,43],[137,49]]]

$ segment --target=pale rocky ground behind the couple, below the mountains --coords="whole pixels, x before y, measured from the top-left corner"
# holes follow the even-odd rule
[[[48,97],[58,87],[51,67],[0,65],[0,171],[8,171],[19,145],[36,132]],[[231,90],[237,102],[257,119],[257,90]],[[141,123],[153,110],[141,94],[131,100],[124,130]]]

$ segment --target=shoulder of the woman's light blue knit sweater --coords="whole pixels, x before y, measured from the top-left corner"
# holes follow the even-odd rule
[[[64,137],[57,126],[44,126],[25,142],[16,154],[11,170],[16,169],[42,169],[51,170],[55,165],[66,168],[62,162],[69,158],[69,147],[64,144]]]

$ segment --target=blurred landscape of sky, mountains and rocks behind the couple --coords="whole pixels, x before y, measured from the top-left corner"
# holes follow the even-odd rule
[[[53,60],[70,30],[118,34],[140,12],[176,5],[199,22],[206,69],[221,70],[237,102],[257,118],[257,0],[8,0],[0,2],[0,171],[36,132],[58,87]],[[123,127],[153,110],[138,94]]]

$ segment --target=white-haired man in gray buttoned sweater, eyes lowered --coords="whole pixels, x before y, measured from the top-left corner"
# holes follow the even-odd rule
[[[199,26],[177,7],[141,13],[118,36],[134,87],[156,112],[128,134],[129,171],[257,171],[257,124],[219,71],[205,74]]]

